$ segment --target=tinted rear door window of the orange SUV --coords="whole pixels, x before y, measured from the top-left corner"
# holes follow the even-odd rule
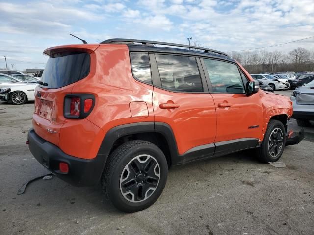
[[[155,55],[162,88],[180,92],[203,92],[195,57]]]

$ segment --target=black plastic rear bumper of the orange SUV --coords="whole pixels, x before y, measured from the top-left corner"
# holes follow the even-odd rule
[[[32,155],[58,178],[76,186],[93,186],[99,182],[107,156],[99,154],[94,159],[81,159],[67,155],[56,145],[39,137],[32,128],[27,138]],[[68,173],[59,171],[60,162],[69,165]]]

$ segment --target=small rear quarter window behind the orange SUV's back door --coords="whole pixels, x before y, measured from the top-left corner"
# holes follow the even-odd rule
[[[151,84],[152,77],[148,53],[132,52],[130,56],[134,77],[142,82]]]

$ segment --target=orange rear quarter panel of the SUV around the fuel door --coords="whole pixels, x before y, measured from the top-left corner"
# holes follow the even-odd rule
[[[91,53],[89,76],[76,82],[71,93],[93,94],[95,106],[85,122],[79,123],[80,131],[73,131],[73,120],[64,122],[60,133],[60,148],[69,155],[94,158],[106,132],[111,128],[134,122],[154,121],[153,86],[133,78],[126,45],[101,44]],[[132,118],[130,103],[135,101],[146,103],[148,115]],[[69,140],[73,135],[77,136],[76,141]]]

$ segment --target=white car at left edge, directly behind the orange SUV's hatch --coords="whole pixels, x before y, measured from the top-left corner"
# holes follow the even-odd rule
[[[23,83],[20,86],[11,86],[0,89],[0,100],[12,104],[24,104],[26,101],[35,100],[35,88],[38,84]]]

